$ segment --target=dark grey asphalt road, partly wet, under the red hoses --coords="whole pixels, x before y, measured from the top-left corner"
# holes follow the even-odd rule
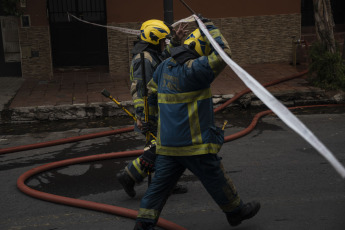
[[[344,115],[344,111],[337,109],[311,110],[297,115],[343,165]],[[217,115],[217,120],[220,124],[224,119],[229,120],[226,128],[229,135],[245,128],[251,116],[248,113],[222,114]],[[128,123],[128,120],[122,122]],[[1,127],[0,148],[110,130],[78,124]],[[119,127],[123,126],[112,128]],[[131,132],[0,155],[0,229],[133,229],[132,219],[30,197],[17,189],[16,181],[24,172],[49,162],[142,147],[143,139]],[[258,215],[236,228],[229,227],[224,214],[200,182],[186,172],[181,183],[189,192],[172,195],[161,217],[186,229],[198,230],[345,229],[345,181],[277,117],[264,117],[251,133],[224,144],[219,155],[242,199],[261,202]],[[137,210],[147,183],[137,187],[135,198],[129,198],[115,179],[116,173],[131,159],[62,167],[30,178],[27,185],[39,191]]]

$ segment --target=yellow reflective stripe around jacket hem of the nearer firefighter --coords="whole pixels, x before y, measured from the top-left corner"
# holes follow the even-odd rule
[[[208,153],[218,153],[221,145],[206,143],[191,146],[168,147],[157,145],[157,154],[167,156],[192,156]]]

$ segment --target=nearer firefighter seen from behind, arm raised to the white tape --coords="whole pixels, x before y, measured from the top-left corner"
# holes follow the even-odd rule
[[[203,18],[219,46],[230,47],[214,24]],[[224,131],[215,126],[210,84],[226,63],[199,29],[183,46],[171,49],[149,82],[149,97],[157,98],[158,130],[155,177],[141,200],[135,230],[152,230],[169,193],[186,169],[198,177],[225,213],[231,226],[253,217],[260,203],[244,203],[217,155]],[[145,153],[144,153],[145,155]]]

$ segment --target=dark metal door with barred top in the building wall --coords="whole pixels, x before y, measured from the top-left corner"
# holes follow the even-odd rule
[[[53,66],[108,65],[105,0],[48,0]]]

